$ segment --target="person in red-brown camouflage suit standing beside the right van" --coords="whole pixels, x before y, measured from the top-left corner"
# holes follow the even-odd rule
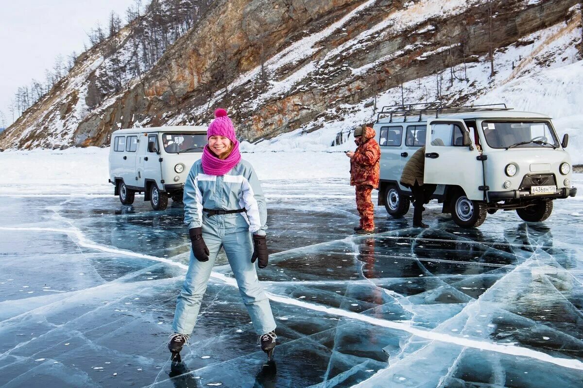
[[[350,185],[356,186],[356,209],[360,215],[360,225],[355,227],[358,234],[374,233],[374,205],[371,200],[373,188],[378,188],[380,179],[381,148],[374,139],[376,133],[366,125],[354,129],[356,151],[346,152],[350,158]]]

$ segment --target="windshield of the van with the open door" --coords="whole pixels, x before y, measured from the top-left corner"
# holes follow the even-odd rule
[[[549,122],[482,122],[486,142],[492,148],[559,147]]]

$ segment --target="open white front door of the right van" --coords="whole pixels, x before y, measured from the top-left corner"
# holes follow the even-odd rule
[[[463,145],[464,137],[469,144]],[[429,120],[423,181],[460,186],[470,200],[483,201],[483,165],[477,159],[480,153],[472,138],[463,120]]]

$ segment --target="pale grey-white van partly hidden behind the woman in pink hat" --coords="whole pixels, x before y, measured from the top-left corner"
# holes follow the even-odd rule
[[[168,197],[182,202],[192,164],[207,144],[206,127],[174,126],[121,129],[111,134],[110,183],[124,205],[144,193],[154,210],[164,210]]]

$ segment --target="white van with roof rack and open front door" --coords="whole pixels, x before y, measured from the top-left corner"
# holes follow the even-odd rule
[[[410,156],[425,146],[424,182],[462,227],[482,225],[487,213],[516,210],[528,222],[547,219],[553,200],[574,197],[568,135],[560,142],[549,116],[504,104],[385,106],[374,124],[381,147],[379,205],[398,218],[411,191],[399,180]]]

